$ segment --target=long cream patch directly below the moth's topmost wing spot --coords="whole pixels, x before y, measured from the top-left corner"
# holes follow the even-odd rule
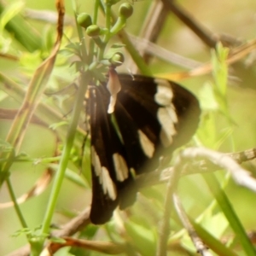
[[[157,117],[161,125],[160,141],[164,147],[169,147],[172,144],[172,137],[176,134],[177,114],[173,106],[170,105],[166,108],[159,108]]]

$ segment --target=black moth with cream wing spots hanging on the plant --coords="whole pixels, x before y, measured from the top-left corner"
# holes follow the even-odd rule
[[[196,97],[166,79],[109,71],[108,81],[90,85],[92,202],[90,221],[104,224],[113,210],[136,200],[134,178],[153,172],[159,159],[195,133],[200,107]]]

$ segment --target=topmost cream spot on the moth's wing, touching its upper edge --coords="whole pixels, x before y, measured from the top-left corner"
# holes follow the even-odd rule
[[[172,103],[172,87],[171,84],[165,79],[154,79],[157,84],[157,92],[154,95],[154,101],[161,106],[168,106]]]

